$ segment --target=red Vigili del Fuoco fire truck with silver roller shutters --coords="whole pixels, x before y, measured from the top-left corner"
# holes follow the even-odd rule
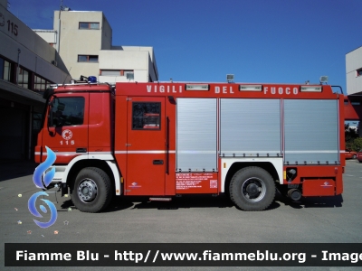
[[[226,193],[265,210],[343,191],[343,94],[329,85],[62,84],[47,89],[35,161],[56,154],[52,183],[81,211],[113,195],[169,201]]]

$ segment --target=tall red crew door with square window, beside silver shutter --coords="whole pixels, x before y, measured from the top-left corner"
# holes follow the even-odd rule
[[[127,195],[164,195],[165,98],[128,98]]]

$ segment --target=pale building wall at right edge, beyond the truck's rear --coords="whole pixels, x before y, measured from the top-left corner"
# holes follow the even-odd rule
[[[348,95],[362,91],[362,76],[357,76],[357,70],[360,69],[362,69],[362,47],[346,54]]]

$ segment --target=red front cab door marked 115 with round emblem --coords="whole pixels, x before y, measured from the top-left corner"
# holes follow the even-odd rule
[[[56,164],[68,164],[74,157],[88,154],[88,104],[88,93],[52,98],[43,128],[42,161],[45,146],[56,154]]]

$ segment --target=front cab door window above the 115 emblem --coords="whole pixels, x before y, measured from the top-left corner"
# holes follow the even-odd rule
[[[84,98],[54,98],[52,126],[79,126],[84,122]]]

